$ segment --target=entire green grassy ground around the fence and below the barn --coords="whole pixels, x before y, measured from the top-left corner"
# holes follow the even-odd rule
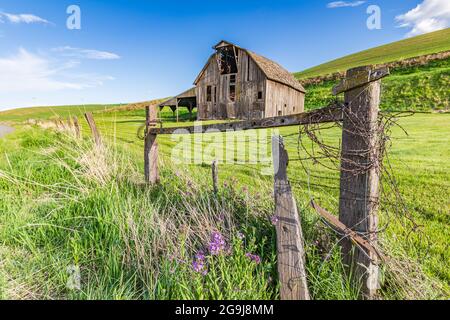
[[[101,113],[96,120],[109,148],[94,148],[84,123],[83,142],[31,127],[0,140],[0,297],[278,298],[272,177],[264,174],[269,163],[221,163],[216,196],[209,166],[215,155],[208,150],[217,150],[217,136],[201,143],[204,157],[191,165],[178,164],[179,157],[171,156],[177,141],[161,136],[161,186],[149,188],[136,137],[144,112]],[[391,260],[382,296],[449,298],[450,117],[422,114],[400,124],[409,135],[394,129],[389,159],[408,212],[421,227],[409,234],[411,224],[389,205],[388,192],[381,238]],[[280,130],[293,160],[296,132]],[[324,130],[323,137],[338,143],[339,130]],[[235,160],[255,151],[251,141]],[[198,145],[194,154],[202,154]],[[302,216],[312,295],[355,299],[358,289],[344,276],[338,239],[308,207],[314,197],[337,211],[338,173],[307,166],[322,178],[309,177],[308,185],[298,161],[291,162],[289,177]],[[208,250],[214,232],[227,244],[217,255]],[[68,289],[67,268],[80,269],[80,290]]]

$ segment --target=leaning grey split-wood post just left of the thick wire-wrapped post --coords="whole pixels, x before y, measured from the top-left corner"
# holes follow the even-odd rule
[[[272,137],[275,170],[275,218],[281,300],[309,300],[305,250],[297,204],[287,178],[288,154],[283,138]]]

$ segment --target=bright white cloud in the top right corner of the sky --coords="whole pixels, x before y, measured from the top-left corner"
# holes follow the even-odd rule
[[[450,27],[450,1],[424,0],[414,9],[395,18],[399,27],[410,28],[406,37]]]

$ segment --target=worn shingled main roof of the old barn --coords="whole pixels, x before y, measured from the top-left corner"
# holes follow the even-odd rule
[[[213,48],[217,49],[220,48],[222,46],[225,45],[232,45],[235,46],[236,48],[245,51],[250,58],[252,58],[252,60],[256,63],[256,65],[261,69],[261,71],[265,74],[265,76],[267,77],[267,79],[275,81],[275,82],[279,82],[282,84],[285,84],[295,90],[301,91],[301,92],[306,92],[305,88],[302,86],[302,84],[297,81],[295,79],[295,77],[286,69],[284,69],[281,65],[279,65],[278,63],[276,63],[275,61],[272,61],[266,57],[263,57],[257,53],[254,53],[250,50],[247,50],[245,48],[241,48],[239,46],[236,46],[228,41],[220,41],[217,45],[215,45]],[[197,76],[197,78],[195,79],[194,84],[196,85],[198,83],[198,81],[200,80],[201,76],[203,75],[203,73],[205,72],[206,68],[208,67],[208,65],[211,63],[211,61],[215,58],[216,54],[212,54],[211,57],[208,59],[208,62],[206,63],[206,65],[203,67],[202,71],[200,72],[200,74]],[[215,59],[214,59],[215,60]]]

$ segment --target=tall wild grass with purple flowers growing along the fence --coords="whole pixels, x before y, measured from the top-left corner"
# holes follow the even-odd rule
[[[120,145],[37,128],[14,137],[0,142],[14,150],[0,158],[0,298],[279,298],[271,183],[256,192],[226,180],[216,195],[209,176],[163,156],[151,187]],[[312,297],[358,299],[338,239],[300,212]],[[67,285],[70,270],[79,288]],[[398,270],[386,271],[383,295],[419,297]]]

